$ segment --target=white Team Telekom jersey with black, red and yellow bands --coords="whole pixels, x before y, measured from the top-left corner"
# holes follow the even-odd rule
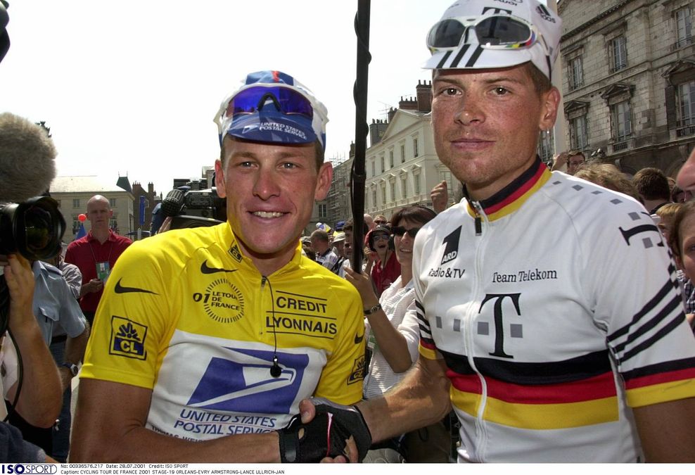
[[[630,462],[630,407],[695,396],[675,267],[632,198],[536,160],[418,233],[421,356],[442,358],[461,460]]]

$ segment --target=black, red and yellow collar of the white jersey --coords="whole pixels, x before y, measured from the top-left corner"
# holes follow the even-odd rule
[[[550,179],[550,176],[548,167],[536,156],[533,164],[516,177],[513,182],[497,191],[490,198],[479,201],[480,208],[483,209],[483,213],[485,213],[488,220],[499,220],[499,218],[514,213],[514,211],[521,208],[521,205],[535,194]],[[477,213],[471,206],[472,200],[468,198],[465,185],[464,196],[466,196],[468,214],[475,217]]]

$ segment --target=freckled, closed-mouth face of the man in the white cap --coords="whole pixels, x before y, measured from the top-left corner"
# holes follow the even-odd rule
[[[437,153],[473,199],[489,198],[530,167],[538,133],[554,125],[559,92],[538,92],[530,67],[435,70]]]

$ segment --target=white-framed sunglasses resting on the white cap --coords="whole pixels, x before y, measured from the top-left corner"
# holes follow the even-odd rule
[[[427,47],[434,52],[470,44],[473,31],[483,49],[527,48],[540,37],[526,20],[510,15],[490,15],[482,18],[447,18],[436,23],[427,35]],[[545,46],[545,45],[544,45]]]

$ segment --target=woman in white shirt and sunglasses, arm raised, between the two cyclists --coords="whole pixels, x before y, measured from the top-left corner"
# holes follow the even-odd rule
[[[365,399],[381,396],[397,384],[417,358],[420,335],[412,282],[413,243],[419,229],[433,217],[434,211],[424,206],[402,208],[391,217],[400,276],[383,291],[381,298],[376,296],[369,275],[346,270],[345,279],[362,296],[366,317],[365,336],[371,358],[364,377]],[[399,442],[387,441],[372,448],[400,450]]]

